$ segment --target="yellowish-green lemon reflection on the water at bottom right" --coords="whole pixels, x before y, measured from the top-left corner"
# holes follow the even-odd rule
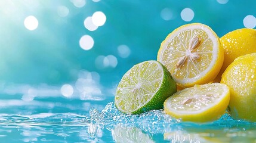
[[[186,127],[184,127],[186,128]],[[254,129],[187,129],[164,133],[164,139],[171,142],[255,142]]]

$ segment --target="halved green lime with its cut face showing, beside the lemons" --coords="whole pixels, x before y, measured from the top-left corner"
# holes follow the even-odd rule
[[[116,88],[115,105],[127,114],[163,108],[166,98],[177,91],[169,71],[158,61],[136,64]]]

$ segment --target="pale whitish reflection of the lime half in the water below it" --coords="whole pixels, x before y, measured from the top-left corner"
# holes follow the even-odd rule
[[[143,133],[141,129],[136,127],[125,127],[118,125],[112,130],[113,140],[115,142],[145,142],[153,143],[155,141],[149,135]]]

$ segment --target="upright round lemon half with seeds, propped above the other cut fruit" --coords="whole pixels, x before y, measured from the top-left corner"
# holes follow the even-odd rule
[[[224,51],[220,39],[205,24],[178,27],[161,43],[160,61],[184,87],[211,82],[221,69]]]

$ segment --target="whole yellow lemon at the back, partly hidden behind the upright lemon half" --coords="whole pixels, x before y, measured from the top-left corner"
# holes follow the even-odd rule
[[[220,42],[224,48],[224,62],[214,82],[220,82],[221,75],[235,58],[256,52],[256,30],[237,29],[221,37]]]

